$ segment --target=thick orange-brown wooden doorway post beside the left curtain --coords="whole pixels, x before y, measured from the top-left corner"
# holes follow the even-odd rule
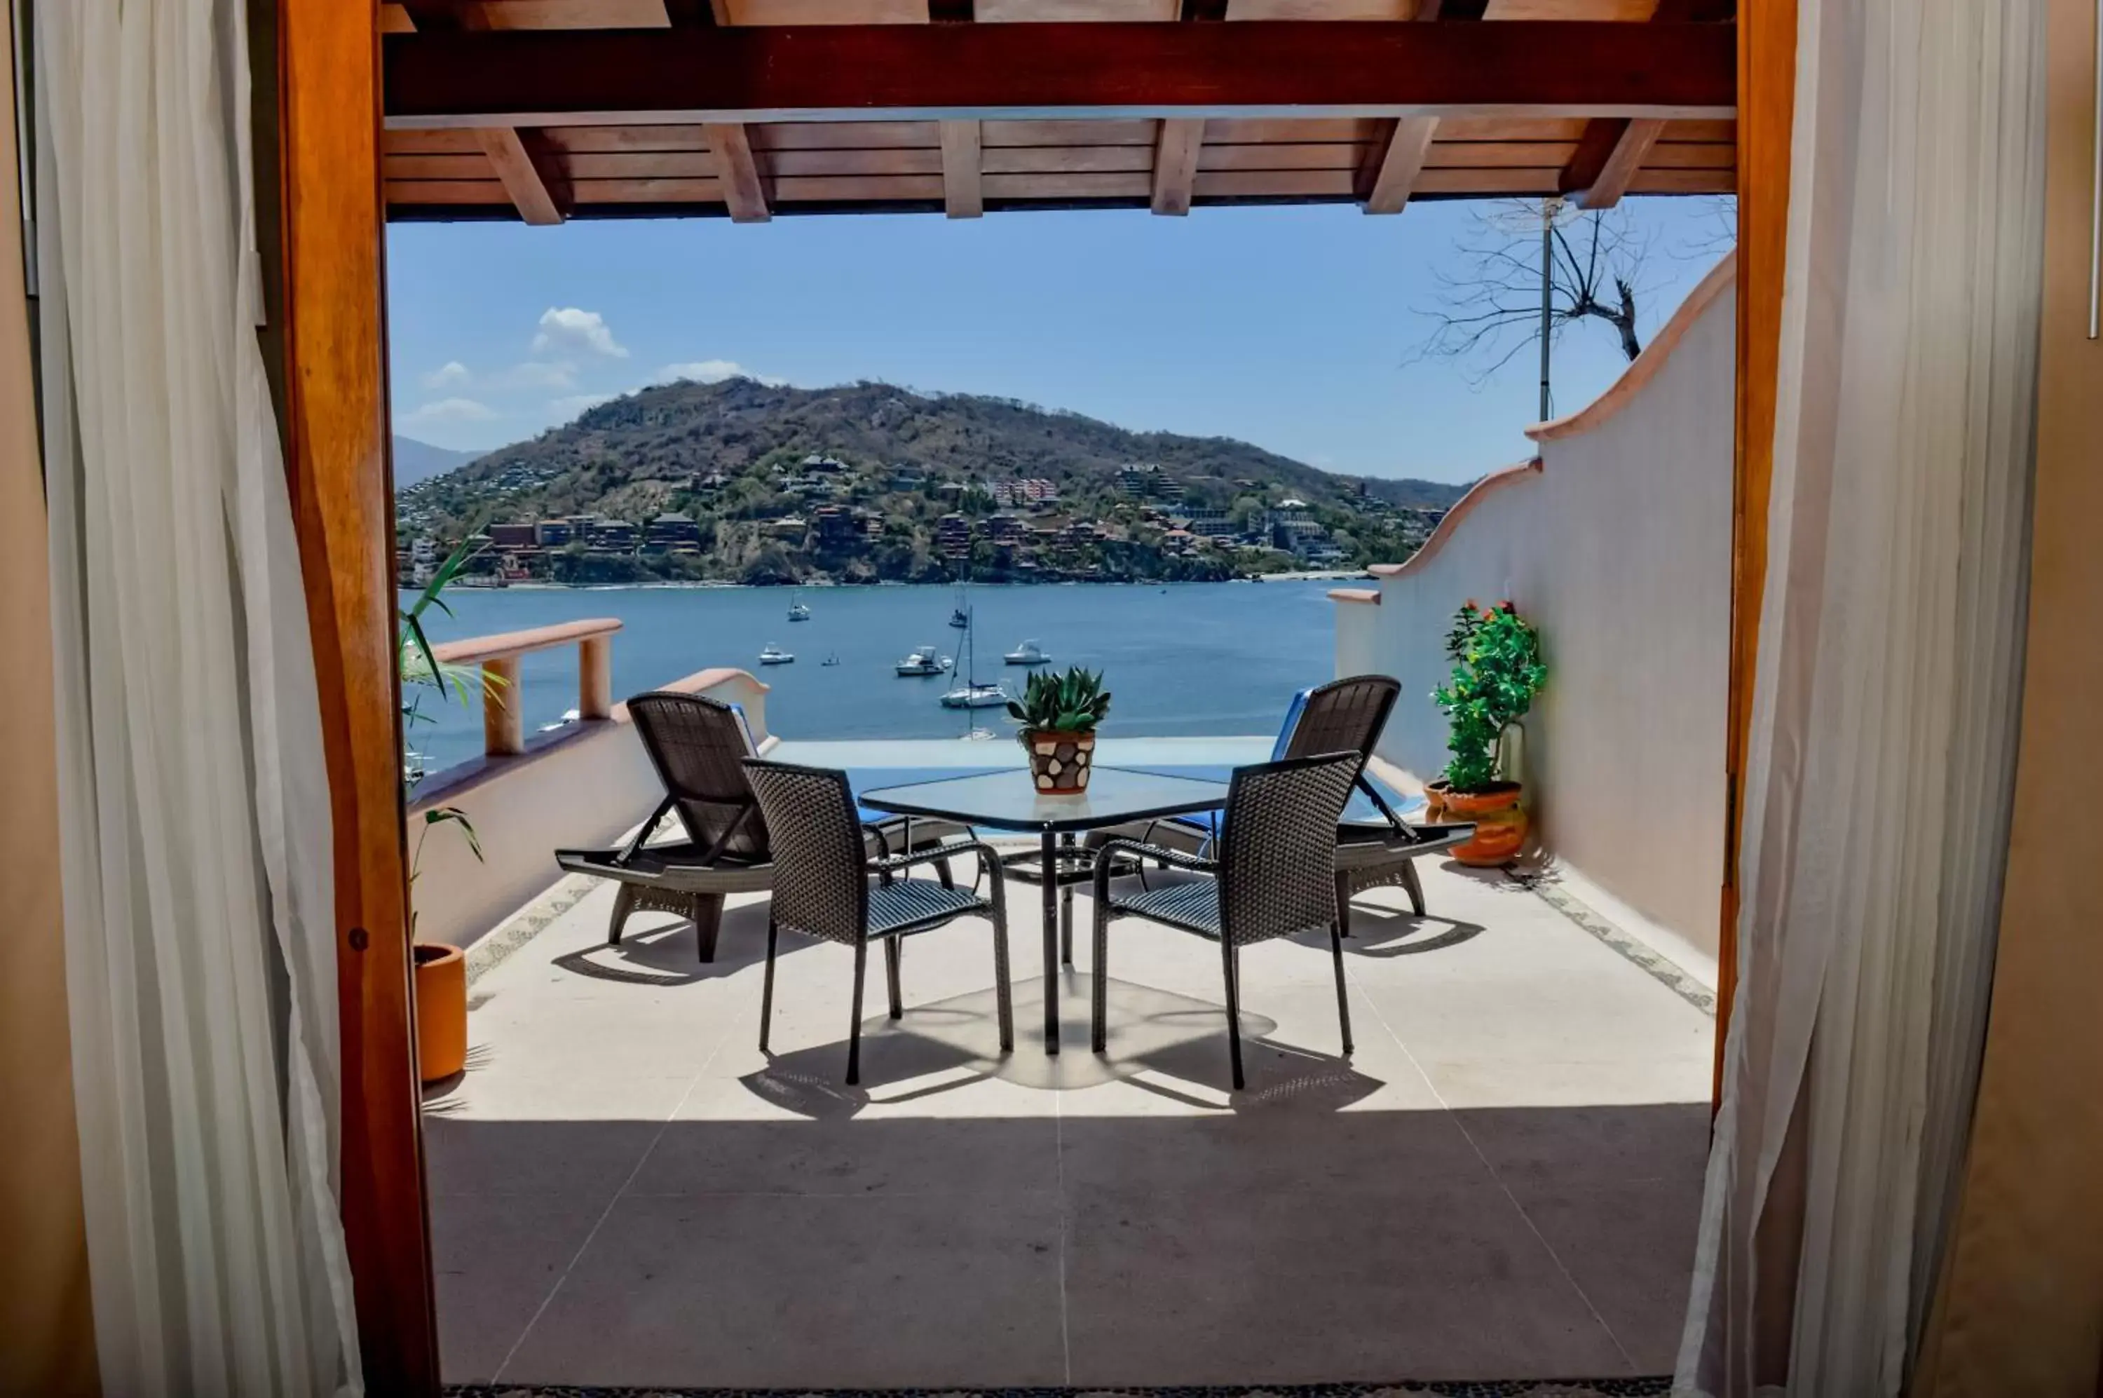
[[[282,408],[334,837],[341,1209],[372,1394],[437,1394],[410,999],[372,4],[278,4]]]

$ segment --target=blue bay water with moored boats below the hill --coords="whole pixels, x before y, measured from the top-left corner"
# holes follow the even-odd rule
[[[1333,582],[1178,582],[974,587],[980,681],[1020,692],[1022,666],[1001,654],[1037,639],[1054,666],[1100,669],[1112,692],[1106,738],[1274,734],[1291,694],[1335,673]],[[452,591],[452,616],[427,614],[433,641],[620,618],[614,698],[726,664],[753,671],[768,727],[782,738],[955,738],[972,723],[1005,732],[997,708],[942,708],[955,679],[900,679],[915,645],[938,645],[963,671],[963,633],[948,626],[944,587],[803,589],[808,622],[789,622],[789,589],[503,589]],[[795,664],[759,666],[768,643]],[[837,666],[820,664],[829,654]],[[526,656],[528,734],[576,706],[576,647]],[[410,742],[431,772],[482,751],[482,713],[425,696]]]

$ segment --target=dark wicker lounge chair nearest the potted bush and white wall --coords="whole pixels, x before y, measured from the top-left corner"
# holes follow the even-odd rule
[[[1361,811],[1346,809],[1335,830],[1335,896],[1344,936],[1350,936],[1350,898],[1365,889],[1398,885],[1409,893],[1409,906],[1424,917],[1424,883],[1415,862],[1426,854],[1464,845],[1474,826],[1411,824],[1403,820],[1380,786],[1365,776],[1365,763],[1380,742],[1380,729],[1403,685],[1390,675],[1352,675],[1312,690],[1302,690],[1285,711],[1270,761],[1314,757],[1316,753],[1356,753],[1359,769],[1352,784],[1365,799]],[[1354,803],[1356,805],[1356,803]],[[1171,816],[1134,826],[1117,826],[1089,837],[1091,847],[1110,839],[1140,841],[1203,856],[1220,837],[1224,816]],[[1159,862],[1159,860],[1157,860]]]

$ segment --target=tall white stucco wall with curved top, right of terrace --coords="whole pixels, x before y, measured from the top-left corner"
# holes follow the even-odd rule
[[[1680,961],[1706,971],[1731,639],[1727,267],[1689,299],[1676,343],[1668,334],[1653,364],[1575,414],[1590,418],[1581,431],[1544,433],[1537,469],[1491,477],[1455,507],[1445,538],[1380,578],[1377,605],[1338,603],[1338,673],[1403,681],[1382,757],[1432,778],[1447,759],[1430,692],[1447,673],[1449,618],[1470,597],[1514,601],[1550,664],[1523,772],[1544,851],[1680,940]]]

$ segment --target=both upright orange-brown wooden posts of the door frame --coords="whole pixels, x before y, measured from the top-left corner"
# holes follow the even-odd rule
[[[275,0],[286,469],[322,696],[343,1015],[343,1226],[366,1383],[437,1394],[395,679],[379,0]],[[1796,0],[1741,6],[1737,408],[1716,1093],[1773,473]]]

